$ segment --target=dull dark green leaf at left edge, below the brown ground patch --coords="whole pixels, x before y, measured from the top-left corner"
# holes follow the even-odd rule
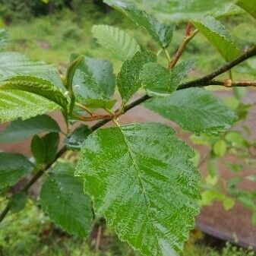
[[[33,166],[19,153],[0,153],[0,188],[14,185],[24,175],[31,172]]]

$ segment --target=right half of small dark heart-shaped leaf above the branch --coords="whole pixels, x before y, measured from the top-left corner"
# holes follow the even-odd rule
[[[43,136],[42,139],[46,148],[45,163],[52,163],[58,151],[59,134],[57,132],[50,132]]]

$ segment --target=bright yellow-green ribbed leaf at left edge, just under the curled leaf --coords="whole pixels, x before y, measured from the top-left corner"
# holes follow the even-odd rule
[[[0,90],[0,122],[19,118],[30,119],[58,109],[60,106],[57,104],[33,93],[22,90]]]

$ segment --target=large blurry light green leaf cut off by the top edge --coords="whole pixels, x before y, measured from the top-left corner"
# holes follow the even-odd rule
[[[250,0],[248,0],[250,1]],[[225,17],[241,14],[242,10],[233,0],[134,0],[140,8],[156,16],[160,21],[191,21],[206,14]]]

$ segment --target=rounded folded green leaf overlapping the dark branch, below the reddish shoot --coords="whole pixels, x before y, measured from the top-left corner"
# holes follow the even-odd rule
[[[150,62],[142,68],[140,79],[150,96],[168,96],[179,87],[182,79],[192,68],[194,68],[193,60],[182,62],[171,71],[156,62]]]

